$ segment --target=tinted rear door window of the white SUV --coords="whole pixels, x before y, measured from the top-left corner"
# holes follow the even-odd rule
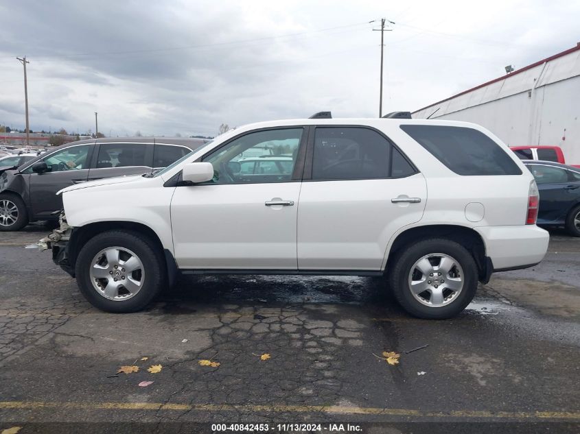
[[[388,178],[392,149],[386,138],[368,128],[316,128],[312,179]]]

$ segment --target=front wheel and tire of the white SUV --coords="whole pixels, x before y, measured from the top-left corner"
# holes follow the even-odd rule
[[[86,300],[111,313],[143,309],[163,288],[166,274],[159,247],[124,230],[90,239],[78,254],[75,273]]]

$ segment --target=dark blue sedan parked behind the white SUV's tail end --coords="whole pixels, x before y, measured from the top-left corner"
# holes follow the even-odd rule
[[[540,190],[537,224],[564,226],[580,237],[580,169],[552,161],[524,161]]]

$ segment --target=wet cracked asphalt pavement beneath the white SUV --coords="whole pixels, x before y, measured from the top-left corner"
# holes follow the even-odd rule
[[[23,248],[47,232],[0,234],[0,429],[580,422],[580,239],[564,232],[544,262],[496,274],[446,321],[408,316],[381,279],[344,276],[183,276],[146,311],[103,313],[49,252]]]

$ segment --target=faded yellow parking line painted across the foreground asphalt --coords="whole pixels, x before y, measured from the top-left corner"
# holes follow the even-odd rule
[[[381,409],[341,407],[336,405],[231,405],[231,404],[163,404],[161,402],[43,402],[0,401],[0,409],[83,409],[83,410],[174,410],[174,411],[254,411],[268,413],[328,413],[343,415],[391,415],[415,418],[502,418],[541,420],[580,420],[580,411],[421,411],[415,409]]]

